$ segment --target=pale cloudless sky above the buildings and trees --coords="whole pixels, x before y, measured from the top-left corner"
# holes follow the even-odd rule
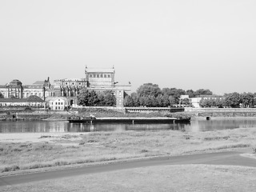
[[[115,68],[132,91],[256,92],[255,0],[1,0],[0,85]]]

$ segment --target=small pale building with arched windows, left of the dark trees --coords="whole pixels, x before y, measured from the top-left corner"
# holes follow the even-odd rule
[[[68,98],[49,98],[48,104],[50,110],[66,110],[70,106]]]

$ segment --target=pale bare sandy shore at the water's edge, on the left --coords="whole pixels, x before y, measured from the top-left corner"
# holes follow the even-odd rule
[[[65,135],[79,136],[88,133],[13,133],[0,134],[0,142],[55,142]]]

